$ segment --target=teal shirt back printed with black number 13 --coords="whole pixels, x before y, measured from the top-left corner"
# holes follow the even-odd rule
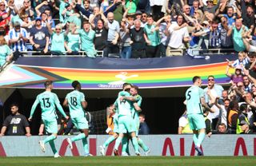
[[[57,117],[55,102],[59,101],[55,93],[45,91],[43,93],[38,94],[37,100],[39,101],[42,109],[43,120],[52,120]]]

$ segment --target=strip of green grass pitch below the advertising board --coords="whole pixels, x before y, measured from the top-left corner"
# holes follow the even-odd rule
[[[255,156],[66,156],[55,159],[54,157],[2,157],[0,166],[114,166],[114,165],[146,165],[146,166],[247,166],[256,165]]]

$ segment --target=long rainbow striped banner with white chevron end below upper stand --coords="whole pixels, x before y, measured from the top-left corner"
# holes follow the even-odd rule
[[[156,69],[78,69],[14,64],[0,76],[0,87],[43,89],[43,82],[54,81],[54,89],[71,89],[71,82],[78,80],[83,89],[120,89],[124,82],[141,89],[182,87],[192,85],[192,77],[209,75],[218,84],[227,84],[226,62]]]

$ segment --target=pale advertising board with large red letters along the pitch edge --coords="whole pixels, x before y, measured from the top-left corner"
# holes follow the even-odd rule
[[[50,145],[41,152],[38,141],[45,136],[3,136],[0,137],[0,156],[53,156]],[[56,148],[61,156],[83,156],[82,141],[74,144],[72,151],[66,138],[58,136]],[[90,153],[99,156],[99,146],[109,136],[92,135],[89,137]],[[140,136],[150,147],[150,156],[196,156],[192,135],[148,135]],[[112,155],[114,143],[106,149],[106,155]],[[119,147],[120,148],[120,147]],[[256,135],[214,135],[206,137],[202,144],[205,156],[256,156]],[[130,145],[131,155],[134,155]],[[142,152],[142,150],[141,150]],[[142,156],[143,156],[142,152]]]

